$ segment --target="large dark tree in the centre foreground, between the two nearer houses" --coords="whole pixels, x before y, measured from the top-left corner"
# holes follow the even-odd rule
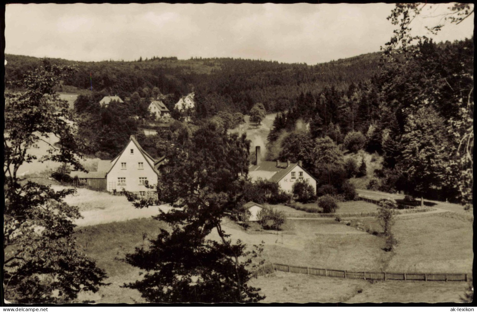
[[[212,121],[195,131],[178,131],[182,134],[165,155],[170,172],[157,185],[159,200],[174,209],[155,218],[170,229],[126,256],[146,273],[125,286],[148,302],[257,302],[264,297],[248,285],[257,254],[240,240],[232,243],[221,223],[244,203],[249,140],[227,135]],[[143,200],[136,207],[150,204]]]

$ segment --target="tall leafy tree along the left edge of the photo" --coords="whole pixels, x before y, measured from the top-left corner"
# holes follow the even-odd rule
[[[3,287],[5,298],[19,303],[62,303],[77,298],[80,291],[96,292],[105,273],[75,245],[74,219],[78,208],[63,198],[72,189],[54,191],[50,186],[23,183],[21,165],[37,159],[31,153],[40,141],[57,136],[62,147],[50,146],[39,161],[68,163],[82,169],[71,147],[74,141],[73,116],[66,101],[53,87],[71,73],[70,67],[47,61],[19,82],[25,91],[5,94],[5,161],[3,210]]]

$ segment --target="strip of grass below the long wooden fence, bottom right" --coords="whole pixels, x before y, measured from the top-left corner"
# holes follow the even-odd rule
[[[466,282],[369,282],[286,272],[259,276],[250,285],[262,289],[263,302],[463,302]]]

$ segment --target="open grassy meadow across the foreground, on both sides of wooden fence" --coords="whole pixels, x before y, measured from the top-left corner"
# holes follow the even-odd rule
[[[90,197],[86,192],[83,195]],[[357,220],[379,229],[375,218]],[[383,237],[332,219],[288,219],[281,232],[257,225],[244,230],[228,219],[222,227],[231,239],[241,239],[249,246],[264,241],[262,257],[272,262],[341,270],[472,270],[472,221],[452,212],[399,216],[393,227],[399,245],[392,252],[383,250]],[[166,224],[152,218],[78,227],[79,245],[106,270],[111,283],[96,294],[82,294],[79,300],[144,302],[137,291],[121,287],[139,278],[139,270],[121,259],[135,247],[147,245],[147,239],[161,228]],[[208,238],[218,236],[212,232]],[[467,287],[466,282],[370,282],[279,271],[252,279],[250,284],[261,288],[267,296],[264,302],[459,302]]]

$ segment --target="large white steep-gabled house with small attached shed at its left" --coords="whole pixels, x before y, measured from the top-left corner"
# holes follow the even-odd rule
[[[158,161],[151,157],[139,145],[134,135],[123,151],[112,160],[112,166],[106,173],[106,190],[121,192],[123,189],[140,197],[154,197],[156,190],[147,188],[156,185],[159,171]]]

